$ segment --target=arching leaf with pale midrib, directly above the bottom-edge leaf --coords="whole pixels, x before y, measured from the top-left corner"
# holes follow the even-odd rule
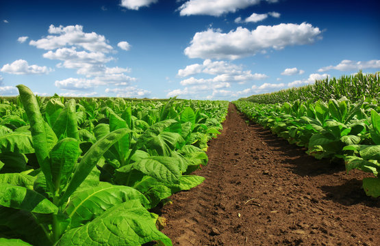
[[[141,204],[149,208],[147,198],[136,189],[101,182],[97,187],[72,195],[65,212],[68,217],[71,217],[71,228],[76,228],[92,221],[108,208],[129,200],[139,200]]]

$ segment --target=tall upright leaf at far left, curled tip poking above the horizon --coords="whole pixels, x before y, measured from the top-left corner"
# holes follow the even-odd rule
[[[55,133],[42,118],[40,107],[33,92],[25,85],[17,85],[20,93],[24,109],[30,122],[31,137],[33,140],[34,150],[38,159],[38,163],[45,174],[48,187],[53,189],[51,182],[51,169],[49,163],[49,152],[55,146],[58,139]]]

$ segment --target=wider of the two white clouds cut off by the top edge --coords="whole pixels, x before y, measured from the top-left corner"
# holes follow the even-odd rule
[[[251,5],[260,3],[261,0],[188,0],[179,8],[181,16],[194,14],[220,16],[228,12],[236,12]],[[277,0],[266,0],[275,3]]]

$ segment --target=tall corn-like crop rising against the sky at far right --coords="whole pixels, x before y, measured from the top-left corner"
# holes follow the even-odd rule
[[[323,100],[327,102],[331,98],[339,100],[345,96],[356,102],[364,98],[380,98],[380,72],[375,74],[357,74],[342,76],[338,79],[326,78],[317,80],[312,85],[294,87],[268,94],[259,94],[241,98],[261,104],[295,102],[296,100],[316,102]]]

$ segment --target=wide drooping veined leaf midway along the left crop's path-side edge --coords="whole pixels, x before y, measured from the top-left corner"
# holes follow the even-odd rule
[[[178,184],[181,177],[178,161],[173,157],[151,156],[133,163],[132,167],[164,183]]]

